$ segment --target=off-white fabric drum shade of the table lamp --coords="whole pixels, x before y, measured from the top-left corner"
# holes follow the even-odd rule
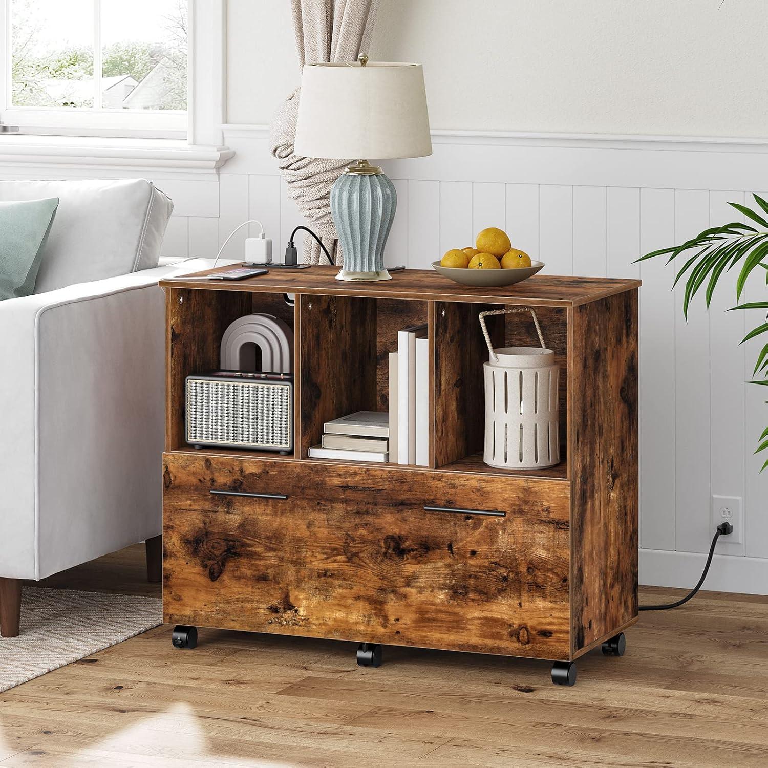
[[[422,65],[304,65],[293,151],[351,160],[432,154]]]

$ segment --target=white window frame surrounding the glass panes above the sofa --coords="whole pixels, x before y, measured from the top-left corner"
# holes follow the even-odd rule
[[[94,5],[98,8],[97,0]],[[0,48],[10,51],[11,0],[0,0]],[[13,107],[9,60],[0,61],[0,123],[20,134],[66,137],[182,139],[192,145],[223,142],[225,0],[188,0],[187,112]],[[94,14],[96,18],[96,14]],[[96,18],[98,23],[98,18]],[[97,38],[98,41],[98,38]],[[94,68],[101,58],[94,51]],[[98,78],[97,78],[98,79]],[[11,134],[0,133],[2,137]]]

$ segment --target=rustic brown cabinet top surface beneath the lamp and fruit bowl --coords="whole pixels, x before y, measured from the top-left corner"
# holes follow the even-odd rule
[[[308,270],[271,269],[269,274],[248,280],[206,280],[214,272],[232,269],[218,267],[193,275],[161,280],[164,288],[245,291],[248,293],[310,293],[323,296],[370,296],[379,299],[416,299],[435,301],[477,301],[498,304],[533,304],[538,306],[578,306],[613,296],[640,286],[640,280],[607,277],[570,277],[542,275],[511,286],[477,288],[462,286],[433,270],[404,270],[392,274],[392,280],[348,283],[336,280],[338,266],[314,265]]]

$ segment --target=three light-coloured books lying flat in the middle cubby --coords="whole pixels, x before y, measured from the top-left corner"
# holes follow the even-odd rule
[[[323,425],[323,443],[310,448],[311,458],[389,462],[389,413],[358,411]]]

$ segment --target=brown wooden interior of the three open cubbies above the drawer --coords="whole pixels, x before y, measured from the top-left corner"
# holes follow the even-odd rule
[[[217,369],[221,337],[233,320],[263,312],[283,319],[294,331],[294,449],[289,455],[236,448],[208,448],[211,455],[270,460],[347,463],[311,459],[323,425],[362,410],[389,411],[389,353],[397,351],[400,329],[429,326],[429,465],[445,472],[568,478],[567,390],[568,310],[538,306],[547,346],[560,367],[558,427],[560,464],[544,469],[490,467],[483,462],[485,397],[483,362],[488,359],[478,314],[499,304],[361,296],[167,288],[166,450],[190,452],[184,432],[184,379]],[[528,313],[488,317],[494,346],[538,346]],[[258,362],[258,361],[257,361]],[[349,463],[359,464],[361,462]],[[405,468],[404,465],[382,465]],[[408,465],[415,466],[415,465]]]

